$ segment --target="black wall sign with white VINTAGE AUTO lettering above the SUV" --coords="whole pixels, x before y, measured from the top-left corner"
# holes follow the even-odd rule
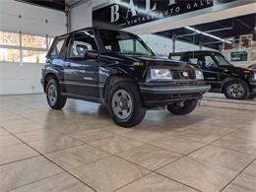
[[[94,10],[93,23],[123,29],[213,6],[214,0],[119,0]]]

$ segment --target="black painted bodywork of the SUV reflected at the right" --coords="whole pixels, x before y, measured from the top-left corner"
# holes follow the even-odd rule
[[[221,54],[217,51],[187,51],[187,52],[177,52],[170,53],[169,58],[173,56],[181,56],[180,61],[189,62],[189,59],[193,58],[191,55],[212,55],[212,54]],[[247,83],[250,92],[252,94],[256,93],[256,80],[253,80],[254,71],[249,68],[241,68],[233,65],[220,65],[220,63],[215,59],[215,62],[218,64],[218,67],[206,68],[201,67],[203,71],[205,82],[208,85],[211,85],[210,92],[213,93],[223,93],[224,85],[231,80],[242,80]]]

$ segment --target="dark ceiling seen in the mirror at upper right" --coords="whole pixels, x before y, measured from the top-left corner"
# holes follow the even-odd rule
[[[250,34],[254,32],[254,40],[256,40],[256,14],[240,16],[236,18],[226,19],[222,21],[216,21],[207,24],[201,24],[192,26],[191,28],[200,32],[207,32],[223,39],[239,38],[239,35]],[[212,31],[212,32],[211,32]],[[157,34],[172,38],[172,36],[178,36],[179,40],[192,42],[199,45],[205,43],[206,46],[219,49],[219,46],[223,44],[218,39],[207,36],[202,33],[193,32],[186,28],[180,28],[175,30],[169,30],[165,32],[157,32]],[[183,35],[184,34],[184,35]]]

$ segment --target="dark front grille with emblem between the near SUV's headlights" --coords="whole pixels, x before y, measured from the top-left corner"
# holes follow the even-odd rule
[[[194,80],[196,79],[195,71],[192,69],[175,69],[170,70],[173,80]]]

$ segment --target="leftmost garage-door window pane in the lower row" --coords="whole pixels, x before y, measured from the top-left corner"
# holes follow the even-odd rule
[[[20,62],[20,50],[11,48],[0,48],[0,61]]]

